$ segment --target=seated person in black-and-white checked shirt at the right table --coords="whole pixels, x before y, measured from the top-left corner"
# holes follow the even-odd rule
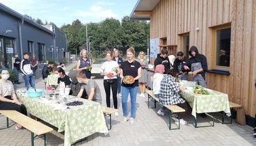
[[[161,108],[157,113],[159,115],[164,115],[163,111],[166,109],[166,107],[163,106],[163,104],[167,105],[177,105],[181,108],[184,108],[186,111],[188,109],[188,106],[186,104],[186,100],[180,97],[179,92],[184,90],[184,87],[179,87],[175,83],[175,80],[178,76],[177,70],[168,70],[167,75],[163,76],[163,79],[161,81],[161,89],[160,89],[160,96],[159,96],[159,102],[161,105]],[[186,112],[180,113],[180,124],[187,124],[185,120],[183,120],[183,117]],[[176,119],[175,124],[178,124],[179,121]]]

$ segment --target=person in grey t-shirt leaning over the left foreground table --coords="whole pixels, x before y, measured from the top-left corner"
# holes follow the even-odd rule
[[[86,74],[83,71],[77,73],[77,81],[82,83],[81,90],[78,93],[77,97],[82,97],[83,90],[86,90],[88,95],[88,100],[93,102],[99,102],[102,104],[102,95],[99,89],[99,85],[93,79],[88,79]]]

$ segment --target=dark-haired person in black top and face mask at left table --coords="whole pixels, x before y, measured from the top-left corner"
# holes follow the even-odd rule
[[[61,81],[65,83],[65,88],[68,88],[70,86],[70,76],[67,76],[65,74],[65,71],[61,67],[57,67],[54,71],[54,74],[56,78],[58,78],[58,87],[56,88],[56,90],[60,88]]]

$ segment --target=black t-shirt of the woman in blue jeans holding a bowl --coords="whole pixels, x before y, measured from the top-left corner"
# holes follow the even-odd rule
[[[134,60],[132,63],[129,63],[128,61],[123,62],[120,65],[120,68],[122,69],[122,75],[123,76],[133,76],[134,78],[138,76],[138,68],[141,67],[141,63],[138,63],[138,61]],[[122,83],[122,86],[125,87],[134,87],[138,86],[138,80],[135,80],[134,83],[126,84]]]

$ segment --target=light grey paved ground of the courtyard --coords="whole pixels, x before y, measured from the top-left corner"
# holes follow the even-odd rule
[[[70,70],[76,63],[67,66]],[[101,87],[103,102],[104,88],[102,79],[95,79]],[[42,81],[36,81],[36,87],[42,88]],[[21,88],[20,84],[17,88]],[[138,96],[137,96],[138,97]],[[95,133],[93,136],[81,140],[75,145],[256,145],[256,140],[253,139],[253,128],[249,126],[241,126],[234,124],[221,124],[216,122],[214,127],[203,127],[195,129],[193,127],[193,117],[191,111],[186,115],[185,120],[189,122],[187,125],[182,125],[179,130],[168,130],[168,111],[166,115],[157,115],[157,108],[147,108],[147,98],[137,98],[137,113],[134,125],[129,122],[122,122],[122,108],[120,107],[120,116],[113,116],[113,127],[108,135]],[[120,99],[118,99],[120,106]],[[221,119],[221,114],[214,114]],[[200,125],[208,124],[211,119],[199,118]],[[109,119],[106,119],[109,123]],[[15,130],[15,123],[11,122],[12,127],[9,129],[1,129],[0,145],[31,145],[31,133],[26,129]],[[175,126],[175,125],[173,125]],[[0,127],[6,127],[6,117],[0,115]],[[48,145],[63,145],[64,133],[53,131],[47,134]],[[43,145],[43,139],[35,140],[35,145]]]

